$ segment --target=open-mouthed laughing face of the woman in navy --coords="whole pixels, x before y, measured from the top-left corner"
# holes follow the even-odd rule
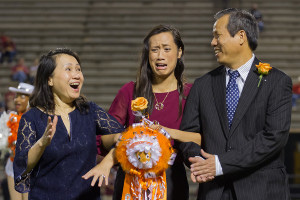
[[[48,80],[54,96],[64,103],[72,103],[80,96],[84,78],[77,60],[68,54],[56,56],[56,68]]]

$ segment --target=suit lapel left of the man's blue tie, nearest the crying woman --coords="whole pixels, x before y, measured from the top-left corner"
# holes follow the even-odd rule
[[[212,88],[214,100],[218,112],[218,116],[220,119],[220,123],[222,125],[223,132],[225,133],[225,137],[227,138],[229,134],[228,130],[228,119],[227,119],[227,111],[226,111],[226,70],[225,67],[220,67],[215,74],[212,76]]]

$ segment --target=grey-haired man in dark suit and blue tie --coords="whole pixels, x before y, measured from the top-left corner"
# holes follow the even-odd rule
[[[180,145],[200,183],[198,199],[289,199],[283,149],[291,79],[274,67],[258,71],[258,27],[250,13],[231,8],[215,19],[211,45],[222,66],[195,81],[181,124],[202,136],[201,152],[195,143]]]

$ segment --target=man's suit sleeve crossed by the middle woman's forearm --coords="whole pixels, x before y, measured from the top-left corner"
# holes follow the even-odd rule
[[[199,88],[198,81],[195,81],[188,95],[182,121],[180,125],[180,130],[196,132],[200,134],[200,120],[199,120]],[[184,163],[186,166],[190,166],[188,161],[189,157],[200,156],[200,146],[194,142],[183,142],[178,146],[178,150],[183,155]]]

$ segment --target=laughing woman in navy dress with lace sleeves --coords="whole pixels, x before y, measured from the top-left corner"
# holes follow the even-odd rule
[[[123,127],[81,96],[83,81],[80,60],[71,50],[41,57],[14,161],[15,188],[29,191],[29,200],[100,199],[99,188],[81,176],[96,164],[96,135],[112,144]]]

